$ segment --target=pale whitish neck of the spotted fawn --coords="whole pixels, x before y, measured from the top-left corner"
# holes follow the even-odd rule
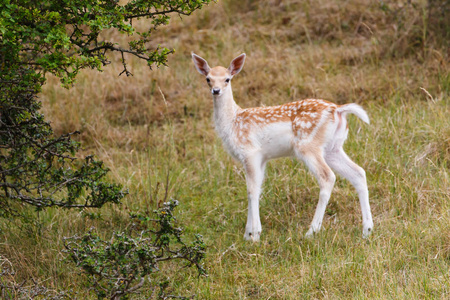
[[[241,108],[234,101],[231,84],[227,86],[221,95],[213,96],[213,98],[216,131],[224,143],[229,144],[233,131],[233,121]]]

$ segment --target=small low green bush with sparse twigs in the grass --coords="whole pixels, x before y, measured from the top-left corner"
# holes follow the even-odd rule
[[[99,299],[129,299],[143,287],[151,290],[150,299],[156,295],[187,299],[167,294],[169,281],[156,275],[162,263],[175,260],[182,268],[195,267],[199,276],[206,275],[202,264],[205,244],[200,235],[190,244],[183,240],[183,229],[175,227],[173,216],[177,205],[176,200],[164,203],[155,211],[155,219],[134,213],[131,217],[137,222],[109,239],[91,229],[65,240],[66,252],[87,275],[87,285]]]

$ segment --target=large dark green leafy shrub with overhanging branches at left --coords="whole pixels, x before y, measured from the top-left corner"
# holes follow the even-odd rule
[[[37,94],[48,73],[73,84],[80,70],[102,70],[108,54],[164,65],[173,50],[151,47],[152,33],[170,14],[189,15],[210,0],[148,1],[2,1],[0,3],[0,216],[18,215],[21,205],[101,207],[118,203],[125,191],[106,183],[108,172],[91,156],[81,162],[77,132],[54,137],[39,113]],[[133,21],[150,19],[136,32]],[[103,39],[105,30],[133,36],[127,47]],[[121,74],[122,74],[121,73]]]

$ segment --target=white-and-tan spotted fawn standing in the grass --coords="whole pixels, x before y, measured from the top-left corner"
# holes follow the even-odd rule
[[[214,124],[224,148],[245,170],[248,212],[244,239],[259,241],[262,227],[259,198],[267,161],[295,157],[317,179],[320,193],[314,217],[305,237],[317,234],[336,181],[336,173],[349,180],[358,194],[363,238],[373,231],[366,172],[344,152],[347,115],[354,114],[370,124],[358,104],[337,105],[322,99],[305,99],[278,106],[241,108],[236,104],[231,80],[243,68],[246,54],[233,59],[228,68],[210,68],[208,62],[191,53],[197,71],[206,77],[214,107]]]

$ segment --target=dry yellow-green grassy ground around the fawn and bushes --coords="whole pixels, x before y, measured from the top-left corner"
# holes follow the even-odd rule
[[[84,72],[70,90],[50,78],[41,97],[55,131],[81,129],[84,151],[103,159],[130,195],[99,215],[41,212],[39,228],[1,221],[0,250],[17,280],[31,276],[84,295],[83,277],[62,259],[63,237],[91,226],[104,234],[120,230],[127,211],[156,207],[150,193],[162,197],[169,172],[169,194],[181,202],[178,219],[208,245],[209,277],[174,275],[174,293],[448,299],[449,57],[433,31],[442,24],[420,8],[399,7],[383,10],[368,0],[221,1],[158,33],[155,44],[177,50],[169,68],[149,71],[131,60],[134,76],[117,77],[117,60],[102,74]],[[191,51],[224,66],[247,53],[233,79],[241,107],[308,97],[365,107],[371,125],[349,117],[345,149],[368,175],[370,239],[361,237],[356,194],[341,178],[323,231],[304,239],[319,188],[301,163],[280,159],[267,169],[261,242],[243,240],[244,173],[215,135],[212,99]]]

